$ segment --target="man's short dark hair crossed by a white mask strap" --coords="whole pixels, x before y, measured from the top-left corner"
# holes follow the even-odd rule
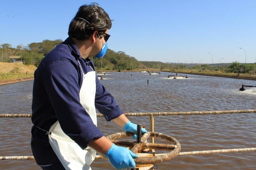
[[[80,18],[87,20],[90,24]],[[82,5],[69,24],[68,35],[77,40],[87,40],[93,31],[98,31],[101,38],[103,33],[111,28],[111,25],[108,13],[99,4]]]

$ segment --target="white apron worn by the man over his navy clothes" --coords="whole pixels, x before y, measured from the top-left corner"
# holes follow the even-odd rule
[[[82,67],[81,70],[83,72]],[[84,74],[83,72],[83,76],[83,84],[80,90],[80,103],[90,115],[93,123],[97,126],[97,117],[94,104],[96,92],[96,73],[92,69],[92,71],[88,72],[87,74]],[[69,138],[63,132],[59,121],[56,121],[51,126],[48,137],[51,147],[66,170],[91,170],[90,164],[95,158],[96,151],[90,147],[87,147],[84,150],[81,149],[74,140]]]

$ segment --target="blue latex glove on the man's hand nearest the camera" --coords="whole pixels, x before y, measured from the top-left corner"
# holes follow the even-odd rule
[[[106,157],[110,164],[119,170],[135,168],[136,165],[133,158],[138,157],[138,155],[132,153],[132,151],[127,148],[113,144],[109,148]]]

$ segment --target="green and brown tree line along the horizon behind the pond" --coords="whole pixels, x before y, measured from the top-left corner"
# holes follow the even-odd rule
[[[3,61],[10,62],[9,56],[20,56],[24,64],[34,64],[38,66],[41,60],[58,44],[57,40],[43,40],[42,42],[32,42],[27,46],[18,45],[16,48],[11,44],[1,45],[3,48]],[[138,61],[136,58],[127,55],[123,51],[115,52],[108,49],[105,57],[89,57],[93,60],[98,71],[102,70],[198,70],[198,71],[225,71],[228,73],[244,73],[245,64],[239,62],[214,64],[185,64],[185,63],[163,63],[158,61]],[[246,64],[246,73],[255,72],[255,63]]]

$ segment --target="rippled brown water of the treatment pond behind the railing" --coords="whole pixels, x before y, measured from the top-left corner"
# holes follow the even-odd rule
[[[255,88],[238,90],[242,84],[255,85],[256,81],[198,75],[171,79],[167,78],[168,74],[174,75],[113,72],[107,73],[101,82],[124,112],[255,109]],[[0,114],[31,113],[32,86],[33,81],[0,86]],[[129,119],[149,128],[149,117]],[[255,121],[255,113],[156,116],[155,131],[178,139],[181,152],[255,148]],[[31,156],[31,127],[29,118],[0,118],[0,156]],[[98,127],[106,135],[122,131],[104,118],[98,118]],[[157,139],[155,142],[166,143]],[[114,169],[107,160],[95,160],[91,167],[93,170]],[[34,160],[0,161],[0,170],[21,169],[40,170],[40,167]],[[179,156],[158,164],[158,169],[255,170],[256,152]]]

